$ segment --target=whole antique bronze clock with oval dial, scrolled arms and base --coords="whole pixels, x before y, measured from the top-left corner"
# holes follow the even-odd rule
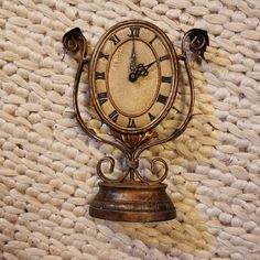
[[[166,34],[152,23],[130,20],[117,23],[99,40],[90,54],[88,43],[76,28],[63,37],[66,52],[78,61],[74,85],[74,109],[83,130],[100,142],[119,149],[126,159],[126,170],[117,180],[102,172],[102,163],[115,160],[105,156],[97,164],[102,180],[99,192],[89,207],[93,217],[122,221],[159,221],[173,219],[175,208],[163,184],[167,164],[162,158],[151,161],[163,166],[158,180],[149,180],[139,170],[140,154],[153,145],[177,138],[187,127],[194,107],[194,87],[188,65],[188,53],[203,57],[208,45],[207,33],[193,29],[182,40],[182,54],[177,56]],[[178,89],[178,62],[187,72],[191,100],[186,119],[169,137],[160,139],[154,128],[172,108]],[[78,106],[78,85],[84,66],[88,67],[88,90],[100,120],[106,123],[115,141],[106,140],[87,126]]]

